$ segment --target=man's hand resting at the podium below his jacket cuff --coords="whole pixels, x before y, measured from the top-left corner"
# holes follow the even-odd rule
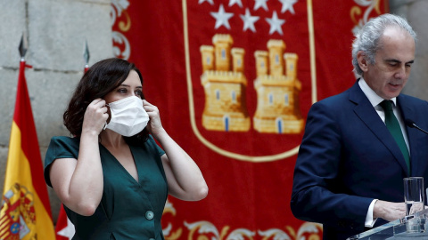
[[[406,216],[406,204],[391,203],[377,200],[373,208],[373,218],[383,220],[398,220]]]

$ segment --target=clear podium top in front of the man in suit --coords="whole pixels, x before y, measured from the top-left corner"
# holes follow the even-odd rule
[[[407,232],[412,228],[413,232]],[[377,228],[370,229],[347,240],[408,240],[428,239],[428,209],[416,212],[399,220],[393,220]]]

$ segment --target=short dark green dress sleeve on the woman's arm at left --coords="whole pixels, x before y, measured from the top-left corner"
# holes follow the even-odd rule
[[[49,170],[53,161],[59,158],[76,158],[78,159],[78,138],[69,137],[53,137],[49,143],[45,155],[45,182],[52,188],[51,180],[49,178]]]

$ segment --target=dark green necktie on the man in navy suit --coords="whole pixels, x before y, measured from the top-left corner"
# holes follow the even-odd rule
[[[410,156],[408,155],[408,149],[406,146],[406,141],[403,137],[403,132],[401,132],[401,128],[399,127],[399,120],[395,117],[394,112],[392,111],[392,101],[391,100],[383,100],[381,102],[381,107],[385,111],[385,124],[388,130],[391,132],[392,137],[399,145],[399,149],[404,156],[407,164],[407,173],[410,174]]]

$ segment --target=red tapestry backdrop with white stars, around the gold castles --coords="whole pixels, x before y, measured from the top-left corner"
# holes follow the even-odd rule
[[[320,225],[296,220],[289,206],[302,129],[294,133],[256,130],[253,116],[260,96],[255,87],[254,52],[267,52],[268,41],[276,40],[284,42],[284,52],[297,54],[294,81],[301,88],[290,98],[304,124],[313,102],[355,82],[350,57],[352,31],[368,18],[387,12],[386,3],[113,1],[115,55],[140,68],[146,100],[160,108],[167,132],[200,166],[210,188],[207,198],[195,203],[169,196],[162,219],[167,239],[321,236]],[[245,20],[245,16],[252,19]],[[245,131],[218,131],[202,124],[210,98],[201,80],[201,46],[213,46],[217,34],[230,37],[231,47],[244,51],[242,73],[246,81],[240,85],[238,95],[242,98],[238,101],[251,123]],[[233,65],[231,60],[228,63]],[[226,72],[235,74],[232,68]],[[219,71],[217,74],[221,76]],[[287,75],[285,71],[283,77]]]

